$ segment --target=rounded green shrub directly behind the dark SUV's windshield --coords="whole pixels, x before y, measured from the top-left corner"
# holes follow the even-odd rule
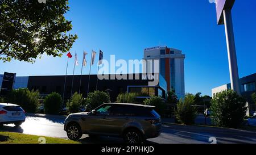
[[[92,109],[108,102],[110,102],[110,97],[104,91],[94,91],[93,93],[89,93],[86,98],[86,103],[89,104]]]

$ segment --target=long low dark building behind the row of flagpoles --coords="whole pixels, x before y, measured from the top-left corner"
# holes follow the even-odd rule
[[[109,77],[112,75],[108,75]],[[118,94],[126,92],[134,92],[144,94],[143,98],[148,98],[151,95],[160,96],[166,98],[166,81],[159,78],[159,84],[156,86],[148,85],[150,79],[143,78],[142,74],[127,74],[127,77],[134,76],[139,77],[139,79],[103,79],[98,80],[97,90],[108,91],[110,94],[110,99],[115,102]],[[41,96],[46,96],[52,92],[64,94],[65,99],[71,98],[71,95],[75,92],[79,92],[80,77],[74,76],[73,82],[73,92],[72,90],[72,78],[73,76],[67,76],[67,82],[65,86],[64,93],[64,81],[65,76],[31,76],[28,78],[28,89],[39,90]],[[88,81],[89,75],[83,75],[81,78],[81,88],[80,93],[84,97],[88,93]],[[97,75],[90,76],[89,92],[96,90]]]

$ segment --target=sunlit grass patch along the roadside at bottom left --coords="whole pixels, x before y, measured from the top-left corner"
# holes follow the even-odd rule
[[[22,133],[14,132],[0,132],[0,144],[40,144],[40,137],[44,136],[33,136],[25,135]],[[44,137],[46,144],[81,144],[77,141],[57,139],[52,137]]]

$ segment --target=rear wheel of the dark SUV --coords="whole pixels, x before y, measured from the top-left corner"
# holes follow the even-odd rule
[[[129,129],[124,132],[123,140],[127,144],[142,144],[142,134],[137,129]]]

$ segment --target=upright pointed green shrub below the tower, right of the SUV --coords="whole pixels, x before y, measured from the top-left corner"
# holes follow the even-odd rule
[[[184,100],[179,100],[177,109],[174,112],[178,122],[186,125],[195,123],[197,109],[193,106],[194,103],[195,100],[192,94],[186,94]]]

